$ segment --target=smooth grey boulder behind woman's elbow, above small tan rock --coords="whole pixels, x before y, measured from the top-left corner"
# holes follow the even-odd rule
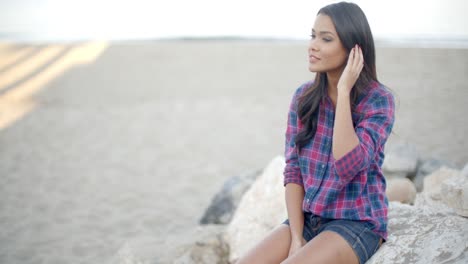
[[[416,174],[419,153],[409,143],[387,145],[382,169],[386,178],[408,177]]]

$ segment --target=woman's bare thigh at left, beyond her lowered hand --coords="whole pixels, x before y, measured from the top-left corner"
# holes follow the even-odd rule
[[[281,224],[235,263],[278,264],[288,257],[290,245],[291,231],[289,226]]]

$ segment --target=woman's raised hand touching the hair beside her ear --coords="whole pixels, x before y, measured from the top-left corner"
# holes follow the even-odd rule
[[[362,55],[361,47],[356,44],[349,53],[348,62],[338,81],[338,94],[344,93],[343,95],[349,95],[363,67],[364,56]]]

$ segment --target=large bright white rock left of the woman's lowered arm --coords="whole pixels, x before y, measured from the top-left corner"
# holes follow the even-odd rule
[[[231,263],[287,218],[284,202],[284,157],[274,158],[244,194],[226,230]]]

